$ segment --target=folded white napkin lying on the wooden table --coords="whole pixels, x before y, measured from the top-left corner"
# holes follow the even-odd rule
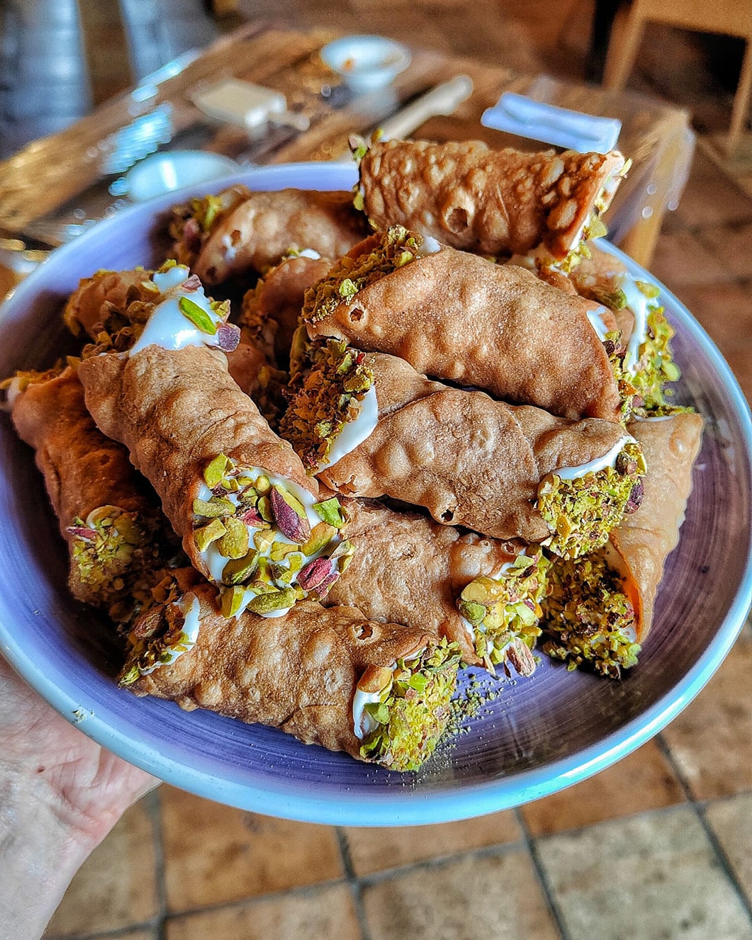
[[[480,123],[581,153],[607,153],[614,149],[621,130],[618,118],[569,111],[510,91],[505,91],[493,108],[483,112]]]

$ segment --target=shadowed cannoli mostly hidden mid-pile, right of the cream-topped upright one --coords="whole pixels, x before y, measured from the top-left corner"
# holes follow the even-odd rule
[[[290,361],[305,291],[327,274],[333,262],[303,252],[284,258],[243,296],[240,321],[258,344],[281,365]]]

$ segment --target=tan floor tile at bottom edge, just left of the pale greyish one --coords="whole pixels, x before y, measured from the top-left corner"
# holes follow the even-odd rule
[[[559,935],[522,850],[422,866],[370,885],[363,902],[372,940],[558,940]]]

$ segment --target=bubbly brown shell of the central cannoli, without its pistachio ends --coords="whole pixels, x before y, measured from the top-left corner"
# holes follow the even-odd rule
[[[572,422],[447,388],[383,354],[369,354],[366,363],[375,376],[378,424],[319,476],[337,493],[425,506],[445,525],[496,539],[546,539],[551,532],[536,508],[541,480],[603,456],[624,434],[598,418]]]

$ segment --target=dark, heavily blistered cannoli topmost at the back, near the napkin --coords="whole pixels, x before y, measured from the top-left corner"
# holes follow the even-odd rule
[[[494,257],[541,245],[565,258],[608,208],[626,170],[616,150],[524,153],[480,141],[389,140],[356,156],[356,205],[374,228],[401,225]]]

